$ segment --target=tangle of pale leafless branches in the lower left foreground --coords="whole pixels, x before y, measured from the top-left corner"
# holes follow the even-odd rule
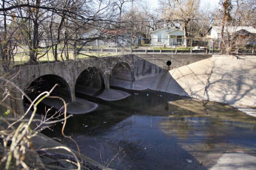
[[[14,120],[14,119],[5,118],[5,117],[2,117],[0,119],[2,122],[5,123],[5,126],[2,125],[0,127],[1,128],[0,136],[1,136],[1,143],[2,143],[2,145],[0,146],[0,149],[3,153],[0,166],[2,168],[5,168],[6,170],[22,169],[22,168],[24,169],[30,169],[30,168],[59,169],[59,167],[51,165],[51,164],[57,163],[57,164],[60,164],[63,167],[63,169],[67,169],[68,166],[70,166],[70,165],[67,166],[67,163],[71,163],[73,168],[79,169],[79,170],[82,169],[82,167],[87,167],[88,169],[94,169],[94,170],[100,169],[97,166],[90,164],[86,160],[82,160],[81,158],[78,158],[75,153],[73,153],[69,148],[65,146],[57,146],[52,148],[39,148],[39,149],[33,148],[31,138],[37,135],[38,132],[36,130],[40,131],[43,128],[49,128],[49,126],[48,125],[45,126],[45,124],[57,123],[60,121],[64,121],[63,128],[62,128],[62,135],[66,138],[69,138],[76,144],[75,140],[73,140],[71,137],[66,136],[64,134],[64,128],[66,125],[67,118],[72,115],[69,115],[67,117],[66,115],[67,104],[62,98],[50,96],[50,93],[55,87],[56,85],[49,92],[43,92],[39,94],[39,96],[36,97],[35,100],[33,101],[29,100],[31,101],[30,107],[28,108],[27,112],[19,119]],[[25,93],[23,94],[26,95]],[[31,123],[33,121],[38,121],[34,119],[35,113],[37,110],[37,105],[46,97],[56,98],[58,100],[63,101],[64,106],[60,110],[64,109],[64,113],[60,113],[60,110],[59,110],[54,115],[50,117],[46,117],[47,113],[49,112],[49,109],[48,109],[46,111],[46,115],[42,117],[37,127],[34,130],[32,130]],[[25,117],[27,116],[27,113],[32,107],[33,107],[33,111],[31,113],[31,116],[27,120],[25,119]],[[57,118],[57,119],[60,118],[60,116],[63,114],[64,114],[64,119],[50,121],[54,118]],[[10,121],[12,121],[12,123]],[[76,146],[80,154],[79,147],[77,144]],[[68,151],[71,155],[52,152],[50,151],[52,149],[64,149]],[[43,163],[42,157],[48,157],[53,159],[54,161],[50,162],[49,164],[45,164]]]

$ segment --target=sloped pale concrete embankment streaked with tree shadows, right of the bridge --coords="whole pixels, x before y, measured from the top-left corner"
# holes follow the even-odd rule
[[[152,89],[235,105],[256,106],[256,58],[214,55],[134,82],[132,89]]]

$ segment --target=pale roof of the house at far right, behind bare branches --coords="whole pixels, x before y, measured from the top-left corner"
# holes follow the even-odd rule
[[[218,34],[221,33],[221,26],[212,26],[209,31],[213,29],[215,30]],[[224,33],[229,32],[229,33],[234,33],[237,31],[241,31],[241,30],[246,30],[250,33],[256,34],[256,29],[252,26],[229,26],[229,27],[224,27]],[[208,31],[208,32],[209,32]]]

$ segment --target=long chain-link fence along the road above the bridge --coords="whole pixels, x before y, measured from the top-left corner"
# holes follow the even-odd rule
[[[29,61],[31,47],[27,40],[9,40],[13,45],[12,62],[15,65]],[[56,46],[56,44],[58,44]],[[36,50],[38,61],[41,63],[82,59],[88,57],[118,56],[130,53],[172,53],[172,54],[223,54],[225,45],[220,39],[212,38],[116,38],[108,39],[69,39],[39,40]],[[43,48],[42,48],[43,47]],[[57,47],[57,50],[55,48]],[[255,54],[256,40],[241,40],[232,53],[252,55]]]

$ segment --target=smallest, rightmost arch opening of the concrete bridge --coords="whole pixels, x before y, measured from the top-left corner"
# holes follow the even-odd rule
[[[130,65],[126,62],[118,62],[110,72],[110,85],[132,85],[135,77]]]

